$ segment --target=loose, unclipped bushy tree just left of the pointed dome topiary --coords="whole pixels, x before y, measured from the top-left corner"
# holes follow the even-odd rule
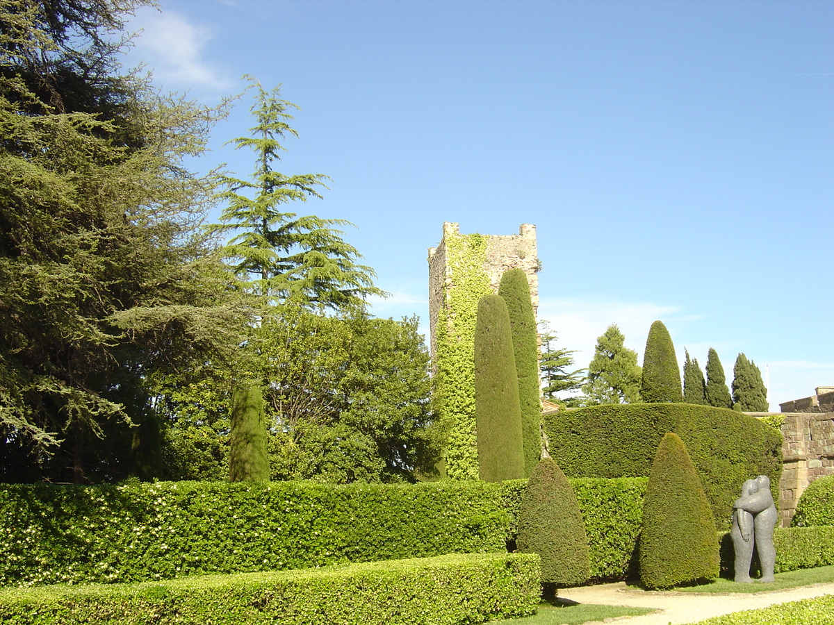
[[[590,403],[635,403],[640,401],[641,368],[637,353],[626,348],[625,337],[610,325],[596,339],[594,359],[588,366],[588,382],[582,393]]]

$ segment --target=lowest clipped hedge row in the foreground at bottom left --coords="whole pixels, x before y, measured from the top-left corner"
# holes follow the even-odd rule
[[[535,612],[539,557],[500,553],[293,572],[0,591],[0,622],[458,625]]]

